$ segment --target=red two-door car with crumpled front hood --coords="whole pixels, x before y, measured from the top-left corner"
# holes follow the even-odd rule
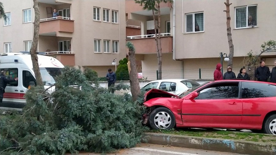
[[[276,134],[276,84],[259,81],[206,82],[180,96],[151,89],[144,96],[144,124],[173,127],[263,130]]]

